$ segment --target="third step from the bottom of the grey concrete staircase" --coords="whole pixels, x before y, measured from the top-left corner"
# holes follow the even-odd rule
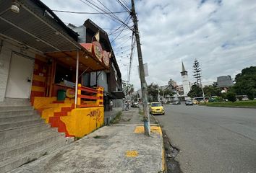
[[[37,133],[34,131],[27,133],[27,131],[24,130],[20,136],[7,136],[8,138],[3,138],[0,140],[0,151],[8,150],[8,148],[12,148],[13,146],[17,145],[17,143],[21,144],[28,141],[33,141],[37,138],[47,138],[48,136],[56,135],[56,133],[58,133],[57,128],[43,128],[40,132]]]

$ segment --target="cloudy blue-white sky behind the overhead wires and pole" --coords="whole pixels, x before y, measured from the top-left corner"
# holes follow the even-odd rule
[[[97,12],[86,0],[42,1],[53,10]],[[131,1],[121,0],[124,1],[131,6]],[[116,17],[132,27],[128,12],[117,0],[90,2],[100,9],[106,10],[107,7],[111,12],[121,12],[116,13]],[[195,59],[199,61],[203,85],[213,84],[218,76],[230,75],[234,79],[243,68],[256,66],[255,0],[135,0],[135,9],[143,63],[148,63],[148,84],[153,82],[162,86],[169,79],[182,84],[182,61],[191,82],[195,82],[193,63]],[[131,30],[127,27],[116,30],[121,22],[107,14],[55,13],[66,25],[72,23],[78,26],[91,19],[103,28],[112,42],[122,79],[128,79]],[[140,89],[137,66],[135,50],[130,83],[135,89]]]

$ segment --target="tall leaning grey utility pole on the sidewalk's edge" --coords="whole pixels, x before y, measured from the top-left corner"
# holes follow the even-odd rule
[[[140,48],[140,35],[139,35],[139,29],[137,24],[137,16],[135,12],[135,1],[132,0],[132,20],[134,22],[134,32],[136,37],[136,43],[137,43],[137,53],[138,53],[138,59],[139,59],[139,69],[140,69],[140,85],[141,85],[141,92],[142,92],[142,101],[143,101],[143,112],[144,112],[144,131],[145,135],[150,136],[150,118],[148,113],[148,92],[147,92],[147,83],[145,80],[145,71],[143,66],[143,59],[142,59],[142,52]]]

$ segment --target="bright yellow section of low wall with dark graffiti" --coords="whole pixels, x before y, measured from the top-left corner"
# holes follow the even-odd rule
[[[72,110],[70,116],[61,117],[69,135],[82,137],[100,128],[104,123],[103,107],[87,107]]]

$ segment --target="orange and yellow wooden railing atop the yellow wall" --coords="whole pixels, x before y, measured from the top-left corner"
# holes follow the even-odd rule
[[[95,89],[78,84],[77,107],[103,107],[103,87]]]

